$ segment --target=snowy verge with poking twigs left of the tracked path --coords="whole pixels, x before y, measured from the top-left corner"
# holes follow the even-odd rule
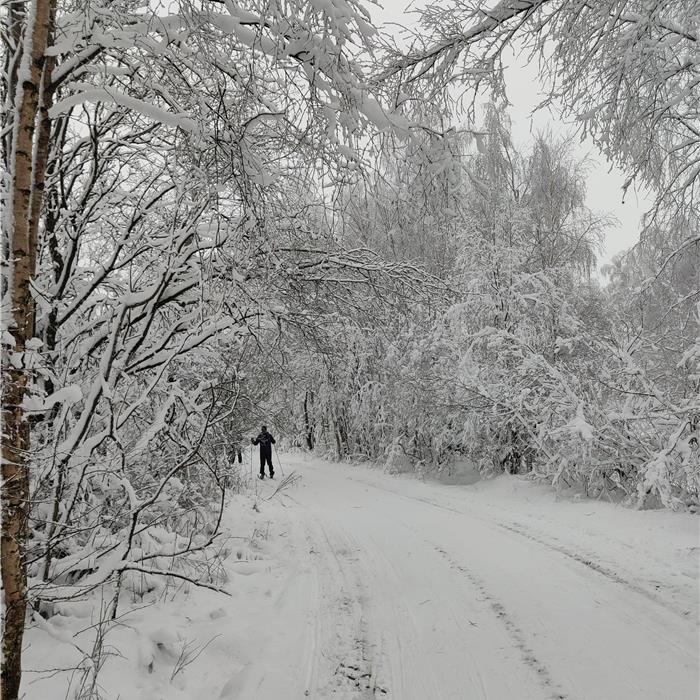
[[[48,619],[34,614],[25,638],[26,700],[219,697],[250,663],[273,614],[289,569],[284,521],[277,498],[231,497],[213,547],[228,595],[129,572],[116,620],[103,619],[109,587],[55,604]]]

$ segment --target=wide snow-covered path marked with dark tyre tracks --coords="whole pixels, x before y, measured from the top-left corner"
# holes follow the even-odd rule
[[[284,466],[292,572],[221,698],[697,697],[694,518]]]

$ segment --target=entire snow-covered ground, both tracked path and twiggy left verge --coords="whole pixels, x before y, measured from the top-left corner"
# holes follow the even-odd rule
[[[696,516],[557,500],[520,477],[282,464],[292,487],[266,500],[260,482],[257,510],[235,497],[226,513],[231,596],[146,595],[107,636],[102,697],[698,697]],[[90,620],[65,613],[29,631],[28,667],[75,662]],[[64,673],[25,679],[28,700],[65,697]]]

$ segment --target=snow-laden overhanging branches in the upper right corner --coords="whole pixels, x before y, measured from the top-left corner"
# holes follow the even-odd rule
[[[658,205],[697,206],[698,0],[469,0],[428,4],[407,51],[381,72],[404,92],[500,85],[514,49],[538,61],[549,101]]]

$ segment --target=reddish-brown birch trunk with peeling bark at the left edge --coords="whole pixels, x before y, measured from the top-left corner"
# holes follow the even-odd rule
[[[12,109],[12,140],[6,153],[8,180],[4,192],[3,237],[9,253],[4,324],[14,338],[3,367],[2,446],[2,674],[0,697],[16,700],[22,676],[22,637],[27,608],[25,562],[29,496],[30,424],[22,402],[27,394],[31,366],[27,342],[34,336],[36,316],[31,293],[35,275],[39,212],[43,197],[48,139],[37,140],[42,85],[50,84],[49,46],[55,0],[33,0],[15,5],[8,14],[8,34],[17,39],[13,68],[5,76],[5,104]],[[40,132],[49,128],[44,115]],[[45,134],[44,134],[45,136]],[[34,215],[32,215],[34,214]],[[8,303],[9,302],[9,303]],[[8,308],[9,306],[9,308]]]

